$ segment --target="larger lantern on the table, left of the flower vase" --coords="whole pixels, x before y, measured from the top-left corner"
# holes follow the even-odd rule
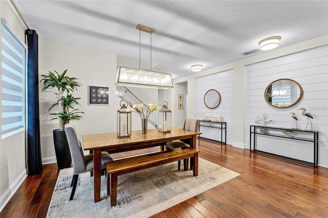
[[[128,101],[121,100],[119,105],[121,108],[117,111],[117,138],[131,137],[131,111],[127,107]]]

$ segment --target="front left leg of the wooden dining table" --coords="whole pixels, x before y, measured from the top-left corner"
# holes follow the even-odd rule
[[[100,180],[101,180],[101,150],[95,149],[93,151],[93,189],[94,202],[100,201]]]

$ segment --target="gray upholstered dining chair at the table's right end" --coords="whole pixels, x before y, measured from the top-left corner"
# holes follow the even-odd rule
[[[186,130],[191,130],[191,131],[198,131],[198,127],[199,127],[199,120],[198,119],[193,119],[193,118],[185,118],[183,119],[182,122],[182,129],[186,129]],[[188,148],[190,147],[190,144],[188,144],[189,141],[188,140],[180,140],[180,141],[173,141],[173,142],[168,142],[166,143],[166,149],[170,150],[170,149],[177,149],[177,148]],[[187,166],[188,169],[188,159],[183,160],[183,163],[185,166]],[[178,162],[178,170],[180,170],[180,166],[181,166],[181,160],[179,160]],[[186,168],[184,168],[185,170],[187,170]]]

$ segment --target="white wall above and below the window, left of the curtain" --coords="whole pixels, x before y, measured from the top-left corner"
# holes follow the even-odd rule
[[[0,15],[6,19],[6,26],[11,32],[24,43],[26,27],[9,1],[0,1]],[[26,132],[22,131],[0,139],[0,211],[26,177],[25,134]]]

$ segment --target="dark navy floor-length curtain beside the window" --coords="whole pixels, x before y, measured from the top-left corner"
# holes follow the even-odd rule
[[[28,175],[42,172],[38,89],[38,35],[26,30],[27,59],[27,170]]]

